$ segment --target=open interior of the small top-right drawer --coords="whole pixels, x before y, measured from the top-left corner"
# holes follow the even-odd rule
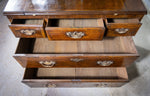
[[[138,24],[139,20],[138,19],[122,19],[122,18],[108,18],[107,23],[135,23]]]

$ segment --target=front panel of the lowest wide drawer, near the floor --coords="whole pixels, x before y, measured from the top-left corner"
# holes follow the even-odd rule
[[[64,82],[64,83],[49,83],[44,81],[23,81],[30,87],[47,87],[47,88],[59,88],[59,87],[121,87],[127,82]]]

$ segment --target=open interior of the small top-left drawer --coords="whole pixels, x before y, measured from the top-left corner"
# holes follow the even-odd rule
[[[42,25],[42,19],[13,19],[11,24]]]

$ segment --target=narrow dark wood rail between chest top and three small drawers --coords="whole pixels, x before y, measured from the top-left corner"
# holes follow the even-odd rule
[[[58,19],[58,18],[138,18],[138,19],[141,19],[144,15],[127,15],[127,14],[124,14],[124,15],[36,15],[36,16],[32,16],[32,14],[30,15],[8,15],[7,17],[9,19],[35,19],[35,18],[38,18],[38,19],[45,19],[45,18],[52,18],[52,19]]]

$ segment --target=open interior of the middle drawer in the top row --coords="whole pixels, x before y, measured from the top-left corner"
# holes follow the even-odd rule
[[[49,19],[47,27],[89,28],[104,27],[102,19]]]

